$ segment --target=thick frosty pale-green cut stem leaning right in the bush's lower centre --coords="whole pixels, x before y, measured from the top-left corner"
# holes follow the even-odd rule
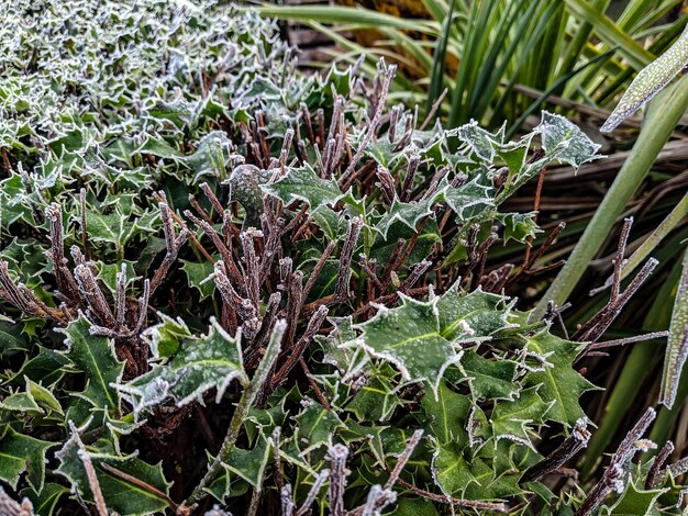
[[[273,366],[279,356],[280,345],[282,336],[285,335],[285,330],[287,329],[287,323],[285,321],[278,321],[275,324],[275,329],[273,330],[273,335],[270,336],[270,341],[267,345],[267,349],[265,351],[265,356],[256,372],[251,380],[251,383],[244,390],[238,404],[236,405],[236,410],[234,411],[234,415],[232,416],[232,420],[230,422],[230,428],[228,429],[226,436],[224,437],[224,441],[222,442],[222,448],[218,452],[218,456],[213,459],[212,464],[208,468],[208,472],[199,482],[197,487],[191,493],[191,496],[184,503],[185,506],[190,506],[203,500],[208,493],[204,491],[213,480],[218,476],[222,469],[222,463],[225,462],[232,450],[234,449],[234,445],[236,444],[236,439],[238,438],[238,434],[241,431],[242,425],[246,419],[246,414],[253,406],[253,403],[256,401],[256,396],[263,389],[263,385],[267,381],[267,377],[273,370]]]

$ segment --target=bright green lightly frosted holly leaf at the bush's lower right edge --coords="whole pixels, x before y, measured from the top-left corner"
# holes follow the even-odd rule
[[[552,335],[548,328],[522,338],[525,339],[524,350],[535,354],[540,362],[525,375],[523,385],[540,385],[537,394],[545,403],[552,403],[547,419],[574,426],[576,420],[585,417],[578,400],[585,392],[595,389],[573,368],[580,346]]]

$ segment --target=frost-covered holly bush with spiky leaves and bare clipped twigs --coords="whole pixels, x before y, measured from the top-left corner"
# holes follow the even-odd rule
[[[581,505],[582,346],[486,269],[539,231],[503,201],[595,158],[569,122],[445,132],[387,105],[392,67],[302,76],[270,22],[208,2],[3,14],[0,479],[27,501],[0,509],[676,502],[679,469],[630,465],[641,425]]]

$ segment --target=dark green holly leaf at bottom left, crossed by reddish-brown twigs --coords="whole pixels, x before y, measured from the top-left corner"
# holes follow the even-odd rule
[[[111,446],[104,449],[86,447],[81,451],[73,436],[55,453],[59,460],[56,472],[67,479],[71,491],[82,500],[93,503],[93,494],[81,457],[84,453],[93,464],[108,509],[135,516],[160,513],[167,508],[168,504],[164,497],[152,490],[143,489],[140,482],[131,480],[136,479],[153,486],[159,493],[167,494],[170,484],[165,480],[162,463],[151,465],[137,459],[135,455],[120,456]]]

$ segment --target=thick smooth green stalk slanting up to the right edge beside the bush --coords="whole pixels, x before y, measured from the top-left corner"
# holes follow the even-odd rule
[[[667,88],[651,104],[662,105],[662,110],[654,110],[646,115],[631,156],[623,164],[566,265],[531,315],[533,319],[544,315],[550,300],[557,305],[566,302],[590,260],[609,237],[617,218],[688,108],[688,76],[684,76],[672,88]]]

